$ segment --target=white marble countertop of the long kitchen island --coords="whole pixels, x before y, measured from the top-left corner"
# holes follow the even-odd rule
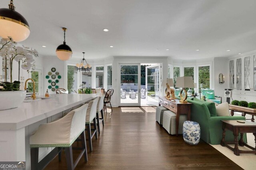
[[[52,98],[36,102],[23,102],[21,106],[0,111],[0,130],[17,130],[70,109],[97,94],[51,94]]]

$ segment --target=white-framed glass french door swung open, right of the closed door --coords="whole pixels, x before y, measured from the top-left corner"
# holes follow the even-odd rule
[[[161,64],[146,66],[146,104],[158,106],[161,96]]]

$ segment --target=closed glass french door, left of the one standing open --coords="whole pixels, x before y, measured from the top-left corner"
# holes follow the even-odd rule
[[[119,106],[140,106],[140,64],[119,64]]]

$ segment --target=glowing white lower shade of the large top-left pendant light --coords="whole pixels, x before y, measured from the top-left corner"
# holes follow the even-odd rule
[[[15,42],[24,41],[30,35],[29,27],[21,25],[19,23],[9,21],[9,20],[0,20],[0,37],[7,38],[12,37],[12,40]]]

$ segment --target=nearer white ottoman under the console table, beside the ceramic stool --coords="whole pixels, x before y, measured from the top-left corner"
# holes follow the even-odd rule
[[[178,134],[182,134],[182,125],[187,120],[187,115],[180,115]],[[176,114],[170,110],[164,111],[163,128],[171,135],[176,135]]]

